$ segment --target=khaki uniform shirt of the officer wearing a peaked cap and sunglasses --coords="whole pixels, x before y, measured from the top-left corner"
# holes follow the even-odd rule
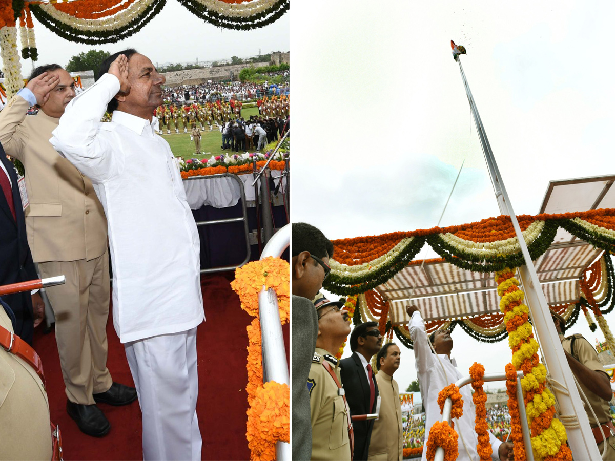
[[[316,348],[308,377],[312,419],[312,460],[350,460],[348,420],[344,397],[322,364],[328,360],[339,377],[338,360],[324,349]]]

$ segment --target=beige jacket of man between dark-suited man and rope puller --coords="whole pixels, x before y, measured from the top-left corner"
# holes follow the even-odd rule
[[[403,459],[402,403],[399,401],[397,381],[384,371],[376,374],[380,414],[371,431],[368,460]]]

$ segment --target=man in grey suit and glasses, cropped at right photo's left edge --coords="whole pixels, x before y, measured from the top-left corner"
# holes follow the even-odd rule
[[[316,227],[292,224],[290,274],[292,280],[292,459],[309,460],[312,451],[310,398],[306,381],[316,347],[318,317],[312,299],[330,272],[333,243]]]

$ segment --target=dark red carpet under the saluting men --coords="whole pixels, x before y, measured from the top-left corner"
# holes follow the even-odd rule
[[[252,318],[240,308],[239,296],[229,285],[232,272],[202,278],[205,323],[197,330],[199,356],[199,416],[204,460],[247,460],[250,451],[245,439],[247,410],[248,345],[245,327]],[[288,356],[288,325],[284,328]],[[111,312],[107,323],[109,357],[107,367],[114,381],[134,385],[119,342]],[[137,401],[127,406],[100,404],[111,423],[103,438],[87,436],[66,414],[66,394],[60,369],[55,333],[34,333],[34,349],[39,353],[47,380],[51,420],[60,426],[65,460],[139,460],[141,453],[141,411]]]

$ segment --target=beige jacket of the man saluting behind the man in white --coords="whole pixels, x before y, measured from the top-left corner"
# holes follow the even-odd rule
[[[30,103],[11,98],[0,111],[0,144],[25,168],[26,232],[34,262],[98,258],[107,248],[105,212],[92,181],[49,143],[60,119],[42,110],[26,116]]]

